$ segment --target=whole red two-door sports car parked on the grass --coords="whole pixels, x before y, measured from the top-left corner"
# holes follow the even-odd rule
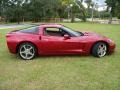
[[[90,32],[78,32],[59,24],[41,24],[6,35],[9,51],[24,60],[37,55],[93,55],[114,52],[115,43]]]

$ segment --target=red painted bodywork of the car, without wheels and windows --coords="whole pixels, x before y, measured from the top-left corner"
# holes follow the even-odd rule
[[[83,36],[65,39],[64,37],[58,36],[46,36],[44,34],[46,27],[61,28],[63,26],[57,24],[43,24],[39,26],[39,30],[36,34],[18,31],[10,32],[6,35],[9,51],[16,54],[18,46],[22,42],[33,43],[37,47],[39,55],[89,55],[93,45],[100,41],[108,44],[109,53],[112,53],[115,49],[115,43],[112,40],[95,33],[83,32]]]

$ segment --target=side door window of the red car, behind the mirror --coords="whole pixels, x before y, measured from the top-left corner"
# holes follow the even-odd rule
[[[45,28],[44,34],[48,36],[62,36],[59,28]]]

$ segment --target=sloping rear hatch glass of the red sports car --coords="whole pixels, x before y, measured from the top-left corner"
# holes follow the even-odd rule
[[[38,30],[39,30],[39,27],[35,26],[35,27],[29,27],[29,28],[22,29],[19,32],[30,33],[30,34],[37,34]]]

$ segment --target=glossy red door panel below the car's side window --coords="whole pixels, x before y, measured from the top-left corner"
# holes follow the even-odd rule
[[[82,51],[82,44],[77,37],[65,39],[64,36],[44,35],[41,40],[45,54],[79,54]]]

